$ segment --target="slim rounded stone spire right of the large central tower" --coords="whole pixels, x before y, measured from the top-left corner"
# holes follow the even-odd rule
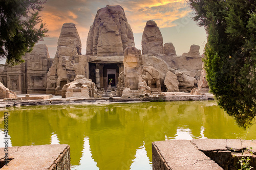
[[[146,22],[141,45],[142,55],[163,55],[163,36],[155,21]]]

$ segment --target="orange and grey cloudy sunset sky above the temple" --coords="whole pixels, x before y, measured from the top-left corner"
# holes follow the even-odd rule
[[[120,5],[134,33],[135,46],[141,49],[142,33],[147,20],[156,21],[163,40],[172,42],[177,55],[187,53],[192,44],[200,45],[203,53],[207,41],[204,28],[191,19],[193,11],[186,0],[48,0],[40,15],[47,23],[49,32],[43,43],[48,46],[50,57],[55,56],[61,27],[65,22],[75,23],[82,43],[82,54],[86,54],[86,41],[97,10],[106,5]]]

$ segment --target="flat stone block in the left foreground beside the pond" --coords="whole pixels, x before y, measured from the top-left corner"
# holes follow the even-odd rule
[[[0,148],[0,168],[12,170],[70,169],[70,146],[68,144],[31,145]],[[5,165],[5,157],[8,163]]]

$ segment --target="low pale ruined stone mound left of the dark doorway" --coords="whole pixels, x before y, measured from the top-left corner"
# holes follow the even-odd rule
[[[93,98],[95,93],[98,93],[95,83],[82,75],[77,75],[62,88],[62,98]]]

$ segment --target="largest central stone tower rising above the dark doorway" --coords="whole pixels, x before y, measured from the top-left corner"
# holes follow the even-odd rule
[[[127,46],[135,46],[131,26],[119,5],[107,5],[97,11],[87,38],[86,54],[123,56]]]

